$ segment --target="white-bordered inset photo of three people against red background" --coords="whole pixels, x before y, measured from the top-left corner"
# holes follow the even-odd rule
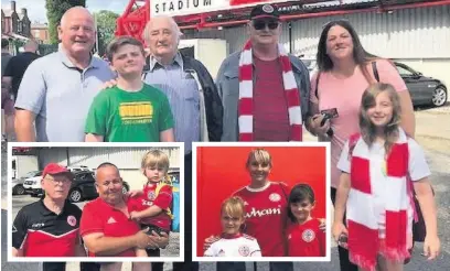
[[[195,143],[193,154],[195,261],[330,260],[329,143]]]

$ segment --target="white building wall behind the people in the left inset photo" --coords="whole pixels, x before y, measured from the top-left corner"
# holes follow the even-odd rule
[[[131,189],[142,187],[146,181],[140,171],[141,160],[146,152],[152,148],[68,148],[68,161],[66,148],[50,148],[38,152],[40,169],[47,163],[54,162],[67,166],[86,165],[95,169],[104,162],[116,164],[120,170],[121,177],[129,183]],[[156,148],[168,153],[170,169],[180,169],[180,149]]]

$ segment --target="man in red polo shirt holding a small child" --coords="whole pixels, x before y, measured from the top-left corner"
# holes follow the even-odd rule
[[[135,257],[136,248],[162,248],[169,236],[147,235],[129,219],[119,170],[111,163],[97,167],[98,198],[83,209],[81,235],[89,256]]]

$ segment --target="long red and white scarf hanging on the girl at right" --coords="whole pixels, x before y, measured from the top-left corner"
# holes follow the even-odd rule
[[[350,260],[361,268],[375,270],[378,252],[392,261],[408,258],[407,236],[410,195],[408,193],[408,138],[399,129],[399,138],[386,159],[387,187],[383,198],[386,208],[386,237],[381,246],[377,214],[374,206],[368,145],[360,138],[351,154],[351,189],[346,204]],[[375,169],[378,170],[378,169]]]

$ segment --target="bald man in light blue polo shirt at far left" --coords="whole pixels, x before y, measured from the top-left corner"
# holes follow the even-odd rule
[[[105,61],[90,55],[96,33],[85,8],[67,10],[57,31],[61,50],[34,61],[23,75],[15,101],[18,141],[84,141],[89,106],[115,77]]]

